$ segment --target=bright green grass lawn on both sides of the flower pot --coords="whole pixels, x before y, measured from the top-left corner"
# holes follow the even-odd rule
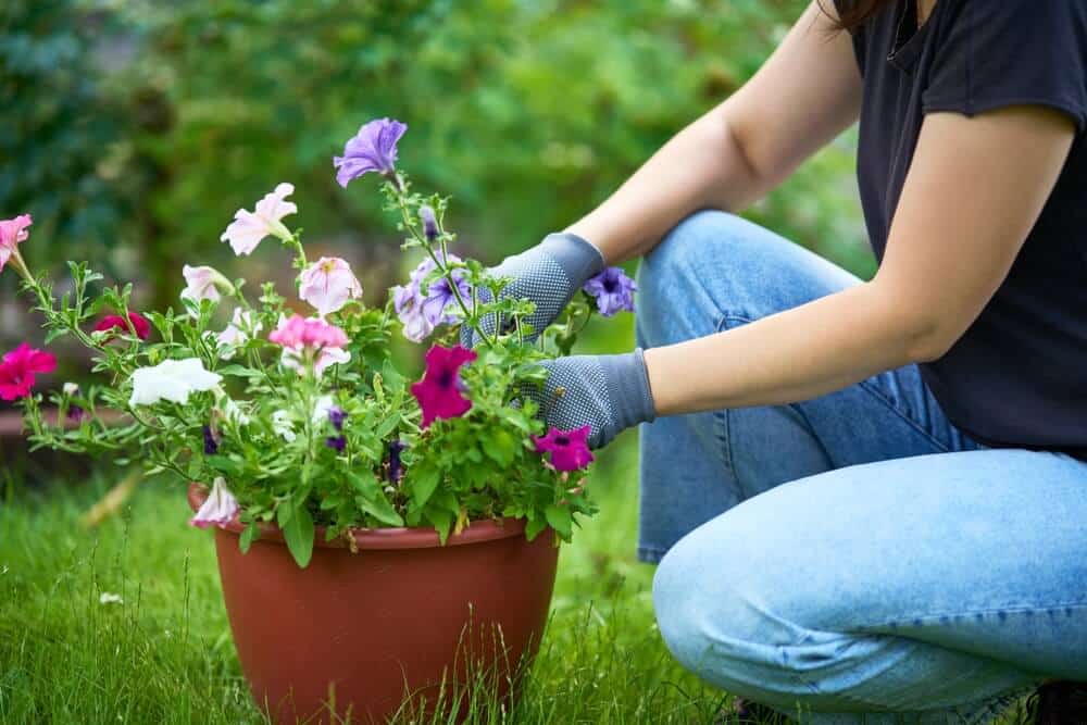
[[[478,722],[712,723],[728,700],[670,657],[634,558],[634,437],[601,457],[600,514],[564,547],[553,613],[524,697]],[[63,483],[63,482],[62,482]],[[212,539],[184,489],[150,482],[88,532],[103,476],[0,505],[0,723],[251,723]],[[123,604],[102,604],[102,592]]]

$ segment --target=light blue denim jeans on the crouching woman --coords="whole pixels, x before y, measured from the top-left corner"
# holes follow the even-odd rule
[[[701,212],[642,263],[639,343],[854,284]],[[980,722],[1040,679],[1087,680],[1087,464],[971,440],[914,366],[791,405],[660,418],[640,465],[661,635],[713,685],[804,722],[942,723]]]

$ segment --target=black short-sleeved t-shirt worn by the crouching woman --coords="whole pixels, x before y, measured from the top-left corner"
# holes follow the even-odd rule
[[[1075,121],[1008,278],[921,370],[975,439],[1087,460],[1087,0],[937,0],[920,29],[914,0],[901,0],[857,30],[853,47],[864,77],[857,175],[879,260],[926,113],[1039,104]]]

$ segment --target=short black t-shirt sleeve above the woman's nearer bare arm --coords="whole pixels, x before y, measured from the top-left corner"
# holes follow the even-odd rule
[[[1087,2],[939,0],[941,10],[925,113],[1038,104],[1087,128]]]

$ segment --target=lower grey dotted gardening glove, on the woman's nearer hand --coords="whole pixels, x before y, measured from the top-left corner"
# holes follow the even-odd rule
[[[573,355],[540,365],[549,375],[527,396],[548,428],[589,426],[589,447],[601,448],[621,432],[657,417],[641,349],[617,355]]]

